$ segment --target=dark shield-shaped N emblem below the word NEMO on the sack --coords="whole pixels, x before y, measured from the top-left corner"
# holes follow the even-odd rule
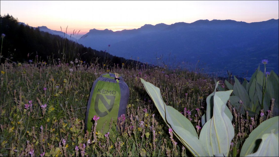
[[[98,104],[99,104],[99,101],[101,100],[102,104],[104,104],[105,108],[110,112],[113,108],[113,105],[114,105],[114,100],[115,100],[115,96],[112,96],[112,95],[105,95],[105,97],[110,100],[110,102],[108,103],[104,96],[102,94],[97,94],[96,95],[96,98],[95,98],[95,105],[94,105],[94,108],[95,108],[95,111],[96,113],[98,114],[98,116],[100,117],[104,117],[106,116],[107,114],[109,114],[107,111],[104,111],[104,112],[101,112],[99,110],[99,107],[98,107]]]

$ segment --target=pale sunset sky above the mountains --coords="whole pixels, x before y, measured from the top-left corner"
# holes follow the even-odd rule
[[[90,29],[113,31],[145,24],[235,20],[247,23],[278,19],[279,1],[0,1],[1,16],[29,26],[47,26],[67,34]],[[61,28],[60,28],[61,26]]]

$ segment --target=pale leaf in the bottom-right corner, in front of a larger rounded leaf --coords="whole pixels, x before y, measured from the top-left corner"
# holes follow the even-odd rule
[[[262,142],[256,153],[247,156],[279,156],[279,136],[278,132],[271,132],[270,134],[264,134],[261,138]]]

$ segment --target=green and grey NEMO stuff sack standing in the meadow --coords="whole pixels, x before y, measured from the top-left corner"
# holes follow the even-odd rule
[[[92,86],[90,97],[87,103],[85,115],[85,131],[91,132],[94,123],[93,117],[96,115],[98,125],[96,131],[109,131],[111,118],[116,127],[117,119],[126,113],[126,107],[129,99],[129,87],[118,74],[103,74],[98,77]]]

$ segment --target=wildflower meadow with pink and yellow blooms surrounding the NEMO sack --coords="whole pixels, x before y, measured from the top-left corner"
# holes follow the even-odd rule
[[[136,65],[124,69],[74,60],[1,64],[1,156],[191,156],[170,136],[140,78],[159,87],[166,104],[185,115],[198,134],[213,79],[196,71]],[[105,73],[118,73],[129,86],[127,111],[117,124],[123,129],[109,134],[92,128],[85,134],[90,90]],[[263,118],[251,119],[228,105],[235,128],[230,154],[239,156]]]

